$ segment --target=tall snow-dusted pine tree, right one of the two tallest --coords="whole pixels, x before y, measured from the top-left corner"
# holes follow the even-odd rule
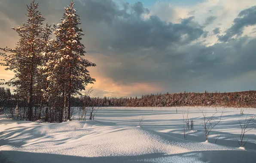
[[[71,95],[85,90],[85,86],[95,81],[91,78],[88,66],[96,66],[95,63],[82,58],[85,53],[85,46],[80,42],[81,36],[84,36],[82,29],[78,27],[80,18],[74,9],[73,0],[70,6],[65,8],[65,13],[54,31],[58,49],[57,56],[51,65],[59,71],[61,76],[52,75],[48,79],[51,82],[59,82],[61,78],[64,81],[64,91],[67,91],[67,119],[70,120]],[[64,79],[64,80],[63,80]]]

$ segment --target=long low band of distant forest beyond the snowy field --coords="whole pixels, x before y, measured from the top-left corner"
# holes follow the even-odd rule
[[[81,101],[76,99],[76,104]],[[88,100],[90,101],[90,100]],[[256,108],[256,91],[229,93],[194,93],[183,92],[174,94],[150,94],[141,98],[91,98],[94,106],[123,106],[123,107],[173,107],[173,106],[207,106],[207,107],[243,107]]]

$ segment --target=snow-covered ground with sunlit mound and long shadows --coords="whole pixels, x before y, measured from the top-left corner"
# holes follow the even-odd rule
[[[188,108],[186,108],[188,109]],[[61,124],[14,121],[2,115],[0,163],[255,163],[255,129],[238,149],[239,121],[256,109],[226,109],[205,142],[202,113],[189,109],[194,130],[183,137],[183,108],[107,108],[94,121]],[[207,117],[215,108],[204,108]],[[141,127],[140,118],[144,116]],[[216,114],[216,121],[220,113]],[[254,127],[255,120],[250,124]],[[221,137],[215,144],[217,135]]]

